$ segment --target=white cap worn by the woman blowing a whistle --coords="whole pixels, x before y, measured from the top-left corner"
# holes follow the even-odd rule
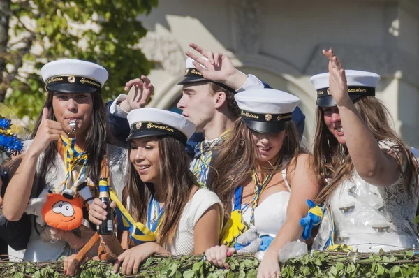
[[[101,90],[108,80],[108,71],[89,61],[61,59],[45,64],[41,77],[49,91],[91,93]]]

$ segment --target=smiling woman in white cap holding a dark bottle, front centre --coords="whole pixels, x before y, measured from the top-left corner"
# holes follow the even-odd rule
[[[115,271],[121,265],[122,274],[131,275],[152,254],[202,254],[217,244],[223,207],[216,194],[200,188],[188,170],[185,144],[196,129],[193,122],[155,108],[131,110],[128,122],[131,167],[123,203],[136,222],[147,223],[143,235],[156,238],[141,242],[141,237],[124,232],[121,244],[115,235],[103,240],[118,256]],[[98,199],[91,205],[89,219],[94,224],[105,218],[102,205]]]

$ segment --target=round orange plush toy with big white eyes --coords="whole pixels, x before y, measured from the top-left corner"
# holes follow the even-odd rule
[[[61,194],[49,194],[42,215],[48,226],[72,231],[82,224],[82,203],[78,198],[68,199]]]

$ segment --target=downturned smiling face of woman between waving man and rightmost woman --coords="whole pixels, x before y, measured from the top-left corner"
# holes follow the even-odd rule
[[[251,131],[251,137],[256,147],[256,159],[274,165],[279,157],[279,151],[284,143],[286,131],[277,134],[265,134]]]

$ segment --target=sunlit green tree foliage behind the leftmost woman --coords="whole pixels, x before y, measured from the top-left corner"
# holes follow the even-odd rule
[[[0,24],[9,35],[6,52],[0,45],[0,101],[7,91],[6,105],[19,117],[36,117],[45,100],[40,69],[64,57],[104,66],[110,76],[103,97],[115,98],[126,81],[149,73],[151,63],[134,47],[146,34],[137,17],[148,14],[157,2],[0,0]]]

